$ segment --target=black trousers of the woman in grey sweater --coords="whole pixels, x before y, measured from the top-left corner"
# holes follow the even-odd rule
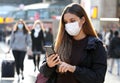
[[[12,53],[15,59],[16,71],[17,74],[19,75],[20,70],[24,71],[24,59],[25,59],[26,51],[13,50]]]

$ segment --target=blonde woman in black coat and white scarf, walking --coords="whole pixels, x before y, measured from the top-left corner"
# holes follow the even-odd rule
[[[36,71],[36,66],[39,70],[40,54],[43,52],[44,45],[43,31],[44,27],[42,22],[40,20],[35,21],[33,30],[31,31],[34,71]]]

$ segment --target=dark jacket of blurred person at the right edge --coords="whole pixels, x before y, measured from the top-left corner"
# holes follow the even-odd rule
[[[111,41],[108,48],[109,58],[120,58],[120,55],[115,54],[116,48],[120,48],[120,38],[115,36]]]

